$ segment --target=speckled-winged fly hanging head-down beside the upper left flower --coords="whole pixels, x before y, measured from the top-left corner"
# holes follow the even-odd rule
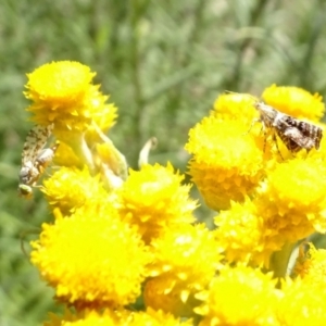
[[[35,126],[27,134],[22,153],[22,168],[20,171],[20,196],[29,198],[33,193],[32,187],[52,161],[59,142],[50,148],[43,149],[53,129],[49,126]]]

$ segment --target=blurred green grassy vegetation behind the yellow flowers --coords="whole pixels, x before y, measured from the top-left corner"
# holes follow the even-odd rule
[[[118,106],[110,137],[130,166],[155,136],[151,162],[185,172],[188,130],[224,90],[260,96],[275,83],[325,96],[325,12],[323,0],[2,0],[0,325],[40,325],[58,311],[21,249],[50,221],[39,191],[32,201],[16,192],[32,127],[26,73],[59,60],[89,65]]]

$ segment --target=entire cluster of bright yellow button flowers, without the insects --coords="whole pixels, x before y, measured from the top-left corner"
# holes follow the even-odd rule
[[[271,125],[255,124],[255,97],[220,96],[186,145],[189,174],[218,211],[209,230],[193,225],[191,186],[170,163],[142,160],[128,175],[104,134],[116,108],[88,66],[52,62],[27,77],[27,111],[36,124],[54,126],[54,164],[62,165],[43,183],[55,220],[32,242],[32,262],[57,300],[74,306],[45,326],[325,324],[325,251],[301,251],[296,278],[279,280],[280,289],[272,273],[253,268],[283,277],[294,243],[326,233],[323,142],[319,151],[291,153],[275,139],[273,116]],[[297,87],[273,85],[263,100],[314,123],[325,111],[321,96]],[[29,163],[42,167],[35,155]]]

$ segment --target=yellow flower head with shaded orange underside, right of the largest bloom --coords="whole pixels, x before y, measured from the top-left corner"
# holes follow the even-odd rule
[[[166,230],[151,247],[154,261],[148,267],[152,279],[146,283],[146,304],[191,316],[198,304],[195,294],[208,286],[222,259],[213,231],[204,225],[185,224]]]

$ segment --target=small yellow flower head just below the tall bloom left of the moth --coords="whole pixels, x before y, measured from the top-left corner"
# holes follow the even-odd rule
[[[274,250],[265,243],[264,218],[248,198],[241,203],[231,202],[228,211],[222,211],[214,218],[218,246],[229,263],[243,262],[254,266],[268,265]]]

